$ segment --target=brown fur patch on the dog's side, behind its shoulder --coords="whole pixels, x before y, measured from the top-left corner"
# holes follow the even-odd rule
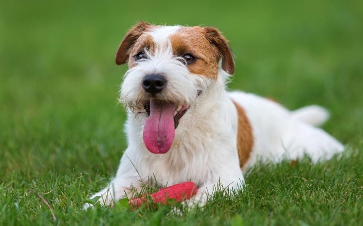
[[[252,127],[243,108],[232,100],[238,113],[237,150],[240,166],[243,169],[250,158],[253,147]]]

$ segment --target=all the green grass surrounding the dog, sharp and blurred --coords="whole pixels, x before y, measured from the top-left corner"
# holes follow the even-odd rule
[[[139,20],[218,27],[236,56],[231,89],[327,107],[346,153],[259,165],[203,212],[82,211],[126,147],[114,54]],[[362,225],[362,21],[358,0],[1,1],[0,225]]]

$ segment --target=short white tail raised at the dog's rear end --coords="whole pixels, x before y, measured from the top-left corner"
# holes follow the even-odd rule
[[[330,114],[327,109],[318,105],[309,105],[291,111],[293,118],[312,126],[321,126],[328,121]]]

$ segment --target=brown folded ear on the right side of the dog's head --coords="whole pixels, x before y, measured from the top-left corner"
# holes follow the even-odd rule
[[[217,48],[219,57],[222,58],[222,69],[229,75],[233,75],[234,61],[227,40],[214,27],[204,27],[204,31],[206,38]]]

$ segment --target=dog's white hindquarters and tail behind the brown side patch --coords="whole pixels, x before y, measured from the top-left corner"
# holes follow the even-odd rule
[[[242,164],[243,169],[260,160],[278,162],[298,159],[305,154],[317,162],[344,150],[344,146],[335,138],[313,127],[329,118],[322,107],[313,105],[288,111],[280,104],[254,94],[235,91],[229,95],[244,109],[252,127],[253,148]]]

